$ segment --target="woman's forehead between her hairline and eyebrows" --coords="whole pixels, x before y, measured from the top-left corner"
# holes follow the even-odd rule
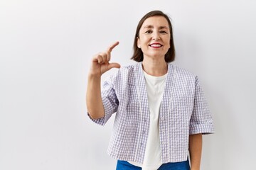
[[[169,28],[168,21],[166,20],[166,18],[164,18],[164,16],[151,16],[149,18],[146,18],[146,20],[142,24],[142,29],[148,26],[156,27],[156,28],[159,28],[159,27]]]

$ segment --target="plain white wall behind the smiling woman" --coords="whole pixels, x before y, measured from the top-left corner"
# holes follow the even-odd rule
[[[106,153],[114,116],[104,127],[87,117],[90,60],[119,40],[112,61],[133,64],[137,23],[155,9],[171,17],[174,64],[198,75],[213,114],[201,169],[253,169],[255,8],[250,0],[1,0],[0,169],[115,169]]]

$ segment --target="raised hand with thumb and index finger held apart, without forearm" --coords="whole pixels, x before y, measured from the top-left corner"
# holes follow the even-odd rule
[[[102,74],[107,72],[112,68],[120,68],[118,63],[110,63],[111,52],[119,44],[119,42],[114,42],[110,45],[105,52],[100,52],[92,57],[92,64],[89,74],[95,77],[101,77]]]

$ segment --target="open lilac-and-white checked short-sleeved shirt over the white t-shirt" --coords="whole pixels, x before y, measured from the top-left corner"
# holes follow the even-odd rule
[[[107,153],[114,159],[142,164],[149,132],[142,62],[122,67],[107,79],[102,102],[105,117],[91,120],[105,125],[116,113]],[[189,135],[197,133],[213,133],[213,118],[198,77],[169,63],[159,112],[162,163],[186,161]]]

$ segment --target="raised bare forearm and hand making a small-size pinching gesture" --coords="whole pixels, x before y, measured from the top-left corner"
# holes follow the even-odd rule
[[[91,68],[88,74],[86,105],[87,111],[93,119],[103,118],[105,116],[100,89],[101,75],[114,67],[120,67],[117,63],[109,63],[110,53],[118,44],[119,42],[115,42],[106,52],[100,52],[92,58]]]

